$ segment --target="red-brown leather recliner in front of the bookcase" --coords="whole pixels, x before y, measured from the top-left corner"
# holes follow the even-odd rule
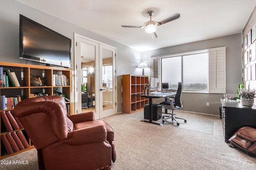
[[[38,151],[40,170],[110,170],[116,160],[110,125],[92,111],[67,117],[61,96],[22,100],[13,113]]]

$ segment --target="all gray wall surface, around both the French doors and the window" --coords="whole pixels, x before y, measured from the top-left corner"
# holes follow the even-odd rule
[[[206,41],[199,41],[174,47],[167,47],[152,51],[140,53],[130,47],[82,29],[72,23],[60,20],[44,12],[20,4],[14,0],[0,0],[0,60],[13,63],[26,63],[19,59],[19,14],[22,14],[34,21],[53,29],[72,39],[72,68],[74,69],[74,33],[85,37],[95,39],[102,43],[117,47],[117,111],[122,111],[122,74],[140,74],[142,70],[137,68],[141,61],[148,64],[150,57],[182,53],[200,49],[226,46],[226,75],[227,75],[227,93],[236,90],[238,84],[242,81],[242,35],[235,34]],[[28,61],[28,64],[39,64]],[[146,75],[149,75],[148,69],[145,69]],[[74,81],[74,78],[73,78]],[[73,93],[74,94],[74,93]],[[218,115],[220,107],[220,97],[223,94],[182,94],[184,110],[200,113],[209,113]],[[206,102],[210,106],[206,107]]]

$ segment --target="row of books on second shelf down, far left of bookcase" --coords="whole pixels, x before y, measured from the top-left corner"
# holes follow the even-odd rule
[[[0,96],[0,109],[1,110],[13,109],[20,101],[21,101],[20,96],[5,97],[5,95],[1,95]]]

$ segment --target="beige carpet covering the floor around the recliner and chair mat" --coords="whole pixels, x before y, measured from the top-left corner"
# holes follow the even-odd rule
[[[178,111],[177,115],[213,121],[213,134],[175,126],[145,123],[143,111],[103,118],[115,132],[117,151],[112,170],[254,170],[256,158],[224,142],[219,117]],[[34,170],[35,149],[5,160],[29,160],[29,164],[0,165],[0,169]],[[86,169],[86,168],[85,168]]]

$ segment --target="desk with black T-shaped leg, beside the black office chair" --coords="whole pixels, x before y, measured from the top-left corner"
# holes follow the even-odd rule
[[[149,94],[147,93],[146,95],[136,95],[136,96],[141,96],[143,98],[148,98],[148,102],[149,102],[149,121],[146,121],[146,120],[141,120],[141,121],[144,121],[144,122],[147,122],[147,123],[153,123],[153,124],[156,124],[156,125],[161,125],[162,126],[162,123],[155,123],[152,121],[152,99],[153,98],[165,98],[165,97],[168,97],[168,96],[172,96],[172,95],[175,95],[176,92],[159,92],[157,94]]]

